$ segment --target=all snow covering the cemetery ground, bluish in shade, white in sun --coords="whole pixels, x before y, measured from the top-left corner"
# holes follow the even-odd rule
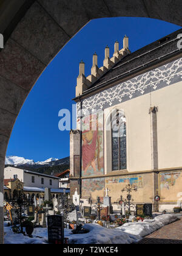
[[[116,229],[106,229],[98,224],[85,224],[84,228],[89,233],[72,234],[72,230],[65,229],[65,236],[69,238],[70,244],[130,244],[141,240],[143,236],[149,235],[164,225],[174,222],[178,215],[159,215],[155,219],[146,219],[144,222],[129,222]],[[47,229],[36,228],[33,238],[22,234],[14,234],[11,227],[5,222],[5,244],[45,244],[47,243]]]

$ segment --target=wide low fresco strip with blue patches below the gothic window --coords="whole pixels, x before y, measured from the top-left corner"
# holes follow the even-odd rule
[[[125,176],[125,177],[108,177],[106,178],[106,184],[125,184],[135,185],[138,188],[143,188],[143,177],[142,176]]]

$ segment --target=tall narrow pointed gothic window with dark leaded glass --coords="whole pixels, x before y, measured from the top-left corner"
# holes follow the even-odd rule
[[[112,171],[127,168],[126,117],[123,112],[112,112]]]

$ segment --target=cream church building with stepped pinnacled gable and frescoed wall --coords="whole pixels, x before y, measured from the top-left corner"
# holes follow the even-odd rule
[[[90,76],[79,63],[77,130],[70,132],[70,195],[83,205],[106,196],[126,198],[160,210],[182,202],[182,29],[135,52],[129,38],[110,49],[103,66],[93,54]]]

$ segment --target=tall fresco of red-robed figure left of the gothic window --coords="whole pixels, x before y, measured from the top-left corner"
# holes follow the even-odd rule
[[[82,176],[104,174],[103,112],[83,118]]]

